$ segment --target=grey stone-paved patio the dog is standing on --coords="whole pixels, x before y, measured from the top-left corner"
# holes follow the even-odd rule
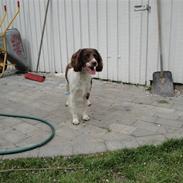
[[[91,120],[74,126],[64,92],[63,76],[47,75],[43,83],[26,80],[23,75],[0,79],[0,113],[35,116],[56,129],[56,136],[47,145],[0,159],[88,154],[183,137],[181,94],[163,98],[142,86],[94,80]],[[0,117],[0,149],[34,144],[49,133],[36,121]]]

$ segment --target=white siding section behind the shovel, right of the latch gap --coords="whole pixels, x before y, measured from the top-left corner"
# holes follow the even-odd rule
[[[176,83],[183,83],[183,1],[161,0],[162,52],[164,70],[170,70]],[[147,79],[160,70],[157,37],[157,1],[151,0],[149,16]]]

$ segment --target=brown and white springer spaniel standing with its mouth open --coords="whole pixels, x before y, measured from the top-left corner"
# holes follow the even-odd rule
[[[67,80],[68,100],[66,106],[70,107],[74,125],[79,124],[77,108],[82,104],[82,119],[88,121],[90,118],[87,114],[92,77],[96,72],[103,69],[102,58],[96,49],[84,48],[79,49],[72,55],[71,62],[67,65],[65,78]],[[78,103],[78,99],[82,102]]]

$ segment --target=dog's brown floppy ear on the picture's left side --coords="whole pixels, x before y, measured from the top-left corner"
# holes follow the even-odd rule
[[[79,49],[76,53],[74,53],[71,57],[71,66],[73,67],[75,72],[82,71],[82,59],[81,59],[82,49]]]

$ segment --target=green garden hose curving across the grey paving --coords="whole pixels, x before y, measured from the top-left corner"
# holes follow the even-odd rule
[[[1,113],[0,113],[0,116],[36,120],[36,121],[39,121],[39,122],[41,122],[43,124],[46,124],[51,129],[51,134],[49,135],[49,137],[47,137],[42,142],[40,142],[38,144],[33,144],[33,145],[25,146],[25,147],[18,147],[18,148],[15,148],[15,149],[3,149],[3,150],[0,149],[0,155],[16,154],[16,153],[21,153],[21,152],[33,150],[35,148],[38,148],[38,147],[41,147],[41,146],[47,144],[55,136],[55,128],[49,122],[47,122],[47,121],[45,121],[43,119],[39,119],[39,118],[31,117],[31,116],[1,114]]]

